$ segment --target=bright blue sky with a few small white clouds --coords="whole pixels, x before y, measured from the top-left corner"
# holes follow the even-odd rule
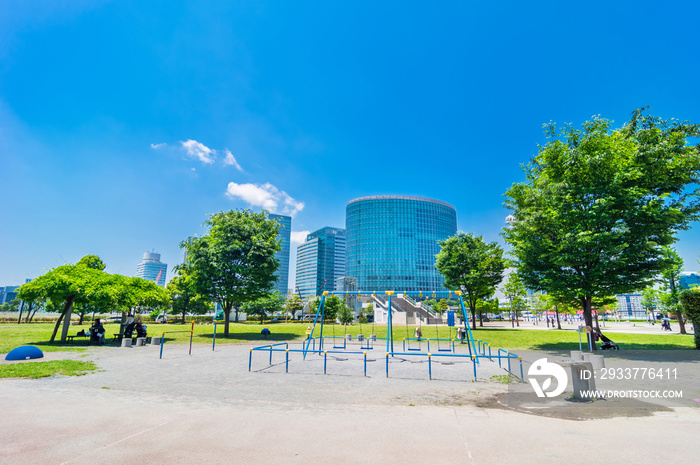
[[[460,230],[501,241],[543,123],[620,126],[643,105],[700,122],[699,10],[3,1],[0,286],[86,254],[172,268],[222,210],[292,213],[295,237],[344,227],[376,194],[449,202]],[[680,234],[686,269],[699,232]]]

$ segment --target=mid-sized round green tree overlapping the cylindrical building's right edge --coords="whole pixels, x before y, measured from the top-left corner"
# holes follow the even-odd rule
[[[439,244],[435,266],[445,277],[445,286],[462,291],[466,297],[476,329],[477,302],[493,295],[503,279],[506,266],[503,250],[495,242],[486,243],[481,236],[466,233],[458,233]]]

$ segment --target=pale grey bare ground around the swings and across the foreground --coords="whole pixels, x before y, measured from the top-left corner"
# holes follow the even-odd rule
[[[283,352],[270,366],[256,351],[248,371],[250,347],[195,346],[190,356],[169,344],[162,360],[157,346],[47,353],[100,371],[0,380],[0,463],[691,464],[700,454],[690,404],[519,409],[503,401],[505,372],[488,360],[476,381],[471,362],[447,358],[433,361],[432,381],[417,357],[396,357],[387,378],[379,347],[367,376],[361,358],[339,354],[324,375],[318,355],[292,353],[285,373]],[[678,367],[697,366],[683,353]]]

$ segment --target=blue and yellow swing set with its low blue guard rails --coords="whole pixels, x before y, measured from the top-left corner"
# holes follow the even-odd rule
[[[480,364],[480,359],[488,358],[491,361],[498,361],[499,367],[506,369],[508,373],[510,373],[513,376],[519,377],[521,380],[523,379],[523,368],[522,368],[522,358],[518,357],[515,354],[512,354],[508,351],[505,351],[503,349],[498,349],[498,351],[494,354],[492,353],[491,346],[483,341],[474,339],[471,328],[469,327],[469,319],[467,317],[467,312],[464,306],[464,301],[462,299],[462,293],[460,291],[444,291],[444,292],[433,292],[432,295],[433,297],[436,297],[436,295],[446,295],[448,298],[451,298],[452,295],[456,296],[459,299],[460,303],[460,311],[461,311],[461,317],[462,317],[462,325],[463,328],[462,330],[464,331],[464,339],[459,339],[458,342],[465,343],[466,348],[468,350],[467,354],[462,354],[462,353],[457,353],[455,350],[455,339],[449,338],[449,339],[444,339],[439,337],[439,329],[437,329],[436,326],[436,334],[437,338],[423,338],[423,337],[404,337],[401,346],[401,350],[398,350],[397,347],[395,347],[394,342],[396,339],[394,338],[394,331],[393,331],[393,317],[392,314],[394,310],[392,309],[392,297],[395,295],[394,291],[386,291],[385,295],[387,298],[387,336],[386,338],[377,338],[374,334],[367,338],[366,340],[363,338],[360,338],[358,336],[358,342],[360,343],[360,350],[349,350],[348,348],[348,339],[347,337],[343,337],[342,344],[338,343],[337,337],[335,334],[333,336],[324,336],[324,322],[325,322],[325,301],[326,297],[329,295],[334,295],[336,293],[334,292],[323,292],[318,309],[316,311],[316,316],[313,321],[313,325],[311,326],[311,331],[309,332],[307,338],[302,342],[302,348],[301,349],[290,349],[289,348],[289,343],[281,343],[281,344],[270,344],[270,345],[265,345],[265,346],[260,346],[260,347],[254,347],[250,349],[250,355],[249,355],[249,362],[248,362],[248,369],[251,369],[252,366],[252,357],[253,357],[253,352],[255,351],[267,351],[269,352],[269,363],[272,365],[272,354],[273,352],[285,352],[285,365],[286,365],[286,370],[288,371],[288,365],[289,365],[289,354],[290,353],[301,353],[302,359],[306,360],[307,356],[309,354],[316,354],[319,356],[323,356],[323,365],[324,365],[324,373],[326,373],[327,369],[327,359],[329,354],[331,356],[334,356],[334,354],[346,354],[346,355],[356,355],[356,356],[362,356],[364,359],[364,369],[365,369],[365,375],[366,375],[366,366],[367,366],[367,351],[374,349],[374,343],[378,340],[381,341],[386,341],[386,352],[385,352],[385,363],[386,363],[386,376],[389,376],[389,366],[390,366],[390,360],[393,358],[402,359],[403,357],[424,357],[427,359],[428,362],[428,371],[429,371],[429,377],[432,379],[432,360],[434,357],[449,357],[452,358],[453,360],[464,360],[467,359],[468,361],[471,361],[472,367],[473,367],[473,374],[474,374],[474,379],[476,379],[477,376],[477,366]],[[348,295],[357,295],[357,296],[376,296],[376,292],[362,292],[362,291],[353,291],[353,292],[343,292],[343,293],[338,293],[338,294],[344,294],[346,296]],[[408,291],[408,292],[403,292],[400,295],[405,298],[405,296],[409,295],[414,295],[418,298],[423,297],[423,292],[420,291]],[[419,322],[419,328],[422,327],[422,323]],[[408,325],[407,325],[408,328]],[[408,335],[408,333],[407,333]],[[451,330],[450,330],[450,336],[451,336]],[[328,349],[327,346],[328,344],[326,343],[326,339],[331,339],[332,345],[331,349]],[[365,342],[366,341],[366,342]],[[407,346],[408,344],[408,346]],[[413,344],[413,347],[411,345]],[[416,348],[415,345],[418,345]],[[283,349],[281,348],[282,345],[286,345],[286,347]],[[433,351],[431,351],[431,345]],[[461,346],[461,344],[460,344]],[[423,348],[425,347],[425,350]],[[488,350],[488,353],[487,353]],[[519,362],[519,370],[516,369],[516,367],[513,366],[512,361],[517,360]],[[504,363],[505,362],[505,363]],[[447,363],[447,362],[446,362]],[[519,372],[518,372],[519,371]]]

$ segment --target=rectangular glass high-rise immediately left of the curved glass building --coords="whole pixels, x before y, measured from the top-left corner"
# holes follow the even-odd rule
[[[297,247],[296,285],[303,297],[333,291],[345,274],[345,230],[325,227]]]

